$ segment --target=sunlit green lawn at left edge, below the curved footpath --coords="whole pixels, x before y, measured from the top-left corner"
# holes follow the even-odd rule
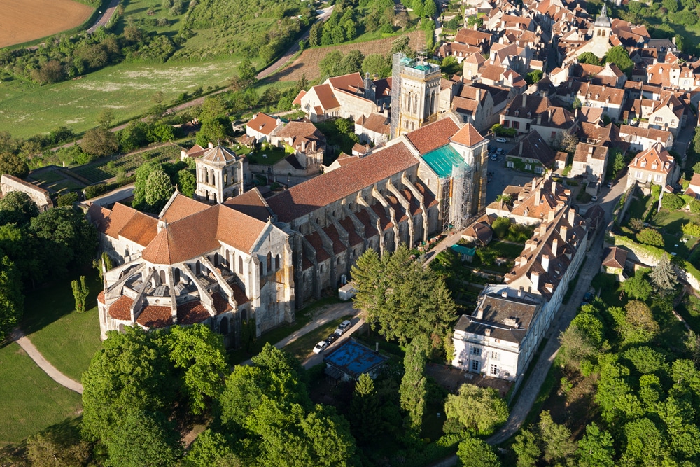
[[[80,414],[80,394],[50,379],[16,343],[0,348],[0,444]]]

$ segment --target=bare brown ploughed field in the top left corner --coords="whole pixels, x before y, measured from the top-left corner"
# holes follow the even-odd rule
[[[66,31],[91,13],[92,8],[73,0],[0,0],[0,47]]]

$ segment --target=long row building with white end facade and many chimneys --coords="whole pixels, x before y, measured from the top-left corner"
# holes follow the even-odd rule
[[[522,377],[586,254],[587,226],[568,206],[542,221],[505,284],[487,286],[454,328],[452,365],[516,381]]]

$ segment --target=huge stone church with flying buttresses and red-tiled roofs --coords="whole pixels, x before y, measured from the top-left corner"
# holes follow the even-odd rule
[[[157,217],[91,206],[102,250],[118,263],[99,295],[102,337],[123,326],[202,322],[233,346],[247,319],[258,335],[293,322],[294,310],[337,288],[365,250],[414,246],[475,214],[484,207],[487,141],[457,122],[438,120],[268,199],[257,189],[226,199],[222,188],[239,186],[241,162],[210,148],[197,160],[197,183],[218,191],[202,201],[220,204],[175,193]]]

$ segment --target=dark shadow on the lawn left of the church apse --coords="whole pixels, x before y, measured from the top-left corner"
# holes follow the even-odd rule
[[[85,285],[90,288],[90,295],[85,300],[85,309],[97,306],[97,295],[102,291],[97,271],[89,270],[79,273],[71,273],[67,278],[59,279],[36,288],[25,291],[25,316],[22,318],[21,327],[26,335],[36,333],[49,324],[70,314],[76,309],[76,300],[73,298],[71,281],[85,276]]]

